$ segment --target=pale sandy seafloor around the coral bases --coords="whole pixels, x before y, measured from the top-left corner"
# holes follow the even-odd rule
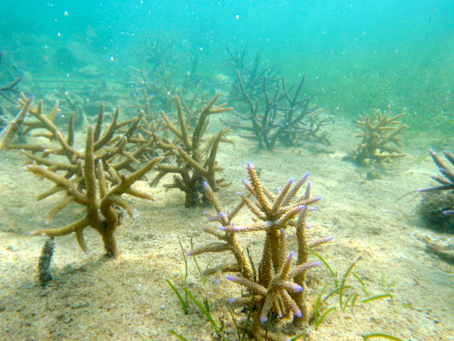
[[[220,166],[226,167],[226,178],[233,184],[218,197],[226,207],[237,202],[236,192],[244,190],[241,178],[247,176],[247,161],[262,169],[262,182],[273,190],[311,171],[312,193],[322,195],[323,200],[309,217],[314,226],[310,234],[336,237],[319,253],[341,274],[362,256],[355,273],[363,278],[371,296],[383,293],[382,276],[386,283],[396,282],[390,288],[392,298],[359,303],[345,311],[338,308],[319,330],[312,326],[307,340],[359,341],[363,340],[360,335],[369,332],[387,332],[411,341],[454,340],[454,266],[428,253],[421,242],[425,235],[453,236],[423,226],[415,212],[418,197],[396,202],[410,190],[432,185],[428,175],[438,173],[436,166],[430,158],[415,163],[413,156],[429,144],[409,138],[404,148],[409,156],[380,168],[381,179],[367,181],[367,168],[341,160],[357,143],[351,124],[339,120],[330,129],[337,151],[328,155],[301,147],[257,151],[252,142],[233,135],[236,145],[223,145],[219,153]],[[169,278],[178,288],[182,286],[184,261],[178,236],[187,250],[191,237],[196,246],[214,242],[200,229],[206,224],[202,215],[206,209],[184,208],[183,194],[177,190],[165,193],[162,187],[136,183],[152,193],[155,202],[131,199],[137,217],[126,217],[117,230],[118,259],[103,259],[100,237],[93,230],[86,233],[90,254],[82,253],[73,235],[58,237],[52,262],[55,279],[43,288],[36,267],[45,239],[28,232],[42,227],[60,197],[35,200],[50,183],[24,171],[24,158],[15,151],[1,153],[0,164],[0,340],[177,340],[168,330],[191,341],[216,340],[199,309],[190,303],[189,314],[184,315],[165,283]],[[52,226],[63,226],[81,214],[79,207],[67,207]],[[246,222],[248,217],[244,210],[235,221]],[[243,234],[240,241],[253,256],[260,256],[263,233]],[[220,255],[215,256],[215,263],[221,261]],[[199,256],[199,264],[206,266],[211,257]],[[331,282],[326,267],[311,271],[312,300]],[[360,298],[366,297],[358,281],[352,277],[349,283],[361,293]],[[226,325],[224,340],[238,340],[227,299],[239,296],[240,288],[226,279],[216,285],[209,278],[204,284],[192,259],[187,288],[200,299],[209,298],[212,315]],[[331,299],[326,306],[336,304]],[[231,308],[236,318],[244,317],[239,309]]]

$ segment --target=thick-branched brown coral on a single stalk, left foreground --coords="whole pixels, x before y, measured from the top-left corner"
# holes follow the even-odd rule
[[[95,148],[95,131],[92,126],[89,126],[87,132],[87,139],[85,144],[85,151],[82,158],[77,161],[77,178],[84,179],[84,189],[77,188],[78,180],[68,179],[45,168],[37,165],[27,166],[27,170],[41,178],[47,178],[55,183],[55,188],[50,192],[45,193],[45,197],[54,193],[63,191],[66,196],[65,199],[55,206],[49,214],[52,219],[57,212],[66,207],[70,202],[75,202],[85,207],[85,216],[82,219],[72,222],[65,227],[56,229],[38,229],[32,234],[43,234],[48,237],[58,237],[65,234],[74,232],[77,237],[77,242],[82,250],[87,251],[87,244],[84,239],[84,229],[92,227],[101,234],[108,256],[116,256],[118,249],[116,245],[116,237],[114,232],[116,227],[121,224],[121,209],[126,210],[129,215],[133,216],[133,208],[131,205],[121,197],[123,194],[133,195],[142,199],[153,200],[147,193],[140,192],[131,188],[135,181],[140,180],[148,173],[156,164],[162,161],[162,157],[154,158],[149,161],[145,166],[138,169],[134,173],[125,176],[120,175],[120,182],[110,189],[104,175],[104,166],[100,158],[96,158],[94,153]]]

